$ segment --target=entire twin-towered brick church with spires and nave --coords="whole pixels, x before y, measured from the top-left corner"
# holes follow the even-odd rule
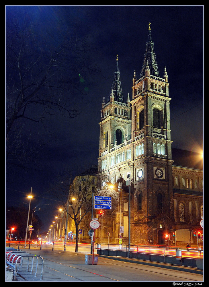
[[[170,101],[167,71],[160,77],[149,26],[142,70],[139,79],[136,72],[133,76],[132,100],[129,94],[124,100],[117,57],[110,95],[102,102],[97,195],[112,196],[112,209],[99,217],[98,242],[118,243],[122,236],[128,243],[127,180],[132,244],[172,245],[175,232],[178,245],[196,245],[193,231],[203,233],[203,159],[171,148]]]

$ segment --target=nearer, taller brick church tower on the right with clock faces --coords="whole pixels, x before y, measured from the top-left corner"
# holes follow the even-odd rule
[[[149,24],[140,79],[134,73],[131,101],[132,239],[140,236],[143,242],[164,243],[163,234],[171,228],[166,222],[173,214],[168,86],[166,68],[163,77],[159,76]]]

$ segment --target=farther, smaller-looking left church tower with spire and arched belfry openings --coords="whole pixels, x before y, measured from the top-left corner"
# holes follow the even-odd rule
[[[118,55],[116,59],[116,69],[112,81],[110,95],[105,102],[102,102],[99,141],[99,169],[105,176],[111,166],[122,161],[115,156],[115,151],[120,149],[124,142],[130,141],[131,138],[131,107],[128,95],[127,101],[124,102],[122,86],[120,80],[120,71],[118,68]],[[114,154],[114,156],[113,156]],[[109,173],[108,173],[109,174]]]

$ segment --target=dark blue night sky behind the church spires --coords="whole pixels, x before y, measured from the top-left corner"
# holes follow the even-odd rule
[[[48,230],[59,204],[49,199],[48,184],[66,168],[83,170],[97,164],[101,103],[110,93],[116,55],[126,101],[128,93],[132,99],[134,70],[140,77],[149,22],[160,77],[164,67],[168,74],[172,147],[203,150],[204,6],[6,6],[6,28],[13,13],[20,11],[44,28],[59,29],[61,17],[70,28],[69,15],[79,17],[80,33],[93,35],[91,44],[99,51],[93,59],[101,74],[85,83],[89,96],[80,101],[76,118],[48,118],[54,139],[42,151],[42,170],[27,173],[15,168],[6,177],[9,206],[27,203],[32,187],[32,208],[41,208],[37,215],[44,224],[42,231]],[[30,125],[26,123],[30,129],[42,129]]]

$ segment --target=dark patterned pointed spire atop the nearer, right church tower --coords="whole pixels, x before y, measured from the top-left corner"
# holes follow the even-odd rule
[[[154,51],[154,42],[151,36],[150,25],[151,23],[149,23],[149,34],[147,38],[146,51],[144,54],[144,61],[143,61],[140,77],[145,75],[145,69],[147,66],[147,62],[148,62],[149,69],[150,69],[150,75],[159,77],[159,71],[158,71],[157,61],[156,61],[156,56],[155,56],[155,51]]]

